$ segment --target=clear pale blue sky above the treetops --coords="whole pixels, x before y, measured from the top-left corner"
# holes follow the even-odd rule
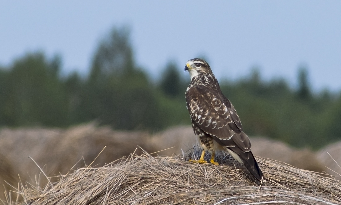
[[[122,25],[155,78],[169,60],[182,72],[204,55],[219,79],[258,67],[295,86],[304,65],[316,91],[341,90],[341,1],[2,1],[0,65],[42,50],[61,54],[64,73],[86,74],[100,39]]]

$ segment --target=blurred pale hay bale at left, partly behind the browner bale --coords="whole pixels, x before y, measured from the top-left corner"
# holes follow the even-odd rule
[[[45,159],[53,151],[61,132],[61,129],[42,128],[1,129],[0,150],[13,168],[12,175],[20,175],[24,183],[34,182],[35,175],[40,173],[40,169],[29,156],[44,167],[47,162]],[[46,167],[44,171],[50,173]],[[17,186],[17,183],[14,186]]]

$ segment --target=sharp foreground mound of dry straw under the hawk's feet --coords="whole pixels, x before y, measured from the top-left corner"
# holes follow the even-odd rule
[[[187,162],[199,154],[144,153],[118,164],[80,168],[44,189],[22,188],[24,202],[18,204],[341,204],[341,181],[257,158],[267,180],[259,186],[225,154],[217,155],[219,166]]]

